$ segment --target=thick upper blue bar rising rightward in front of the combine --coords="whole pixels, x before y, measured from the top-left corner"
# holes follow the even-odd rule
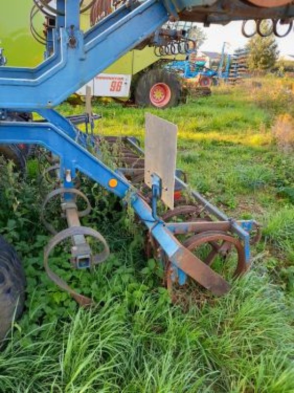
[[[166,8],[157,0],[146,0],[127,15],[125,8],[116,12],[123,17],[102,32],[98,24],[86,40],[75,31],[75,47],[68,45],[70,37],[61,28],[60,43],[56,39],[54,43],[57,56],[35,72],[1,67],[0,108],[37,110],[56,106],[168,20]]]

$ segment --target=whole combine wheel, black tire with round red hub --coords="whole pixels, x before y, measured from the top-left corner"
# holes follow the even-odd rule
[[[145,72],[135,87],[135,104],[140,107],[170,108],[179,104],[181,84],[177,77],[165,70]]]

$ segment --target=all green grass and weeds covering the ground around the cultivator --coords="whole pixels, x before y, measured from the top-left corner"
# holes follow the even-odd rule
[[[27,272],[26,313],[0,353],[0,392],[294,393],[294,153],[291,139],[285,146],[273,131],[282,115],[294,116],[290,82],[217,87],[211,97],[148,110],[179,126],[177,166],[192,188],[230,216],[263,224],[251,272],[227,296],[207,294],[188,309],[170,303],[157,263],[142,251],[141,228],[90,182],[93,211],[83,224],[107,237],[109,260],[90,273],[71,270],[62,248],[51,259],[97,302],[78,309],[42,266],[49,236],[39,211],[50,186],[35,165],[26,179],[0,166],[0,232]],[[103,115],[97,133],[143,141],[146,110],[94,110]]]

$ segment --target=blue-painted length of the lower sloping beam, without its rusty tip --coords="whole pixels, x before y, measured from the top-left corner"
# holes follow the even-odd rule
[[[125,197],[131,188],[131,184],[126,179],[107,168],[53,124],[0,122],[0,143],[40,144],[58,155],[61,159],[61,167],[70,169],[73,177],[75,171],[79,170],[118,197]],[[61,178],[62,176],[63,173]],[[117,180],[115,188],[109,186],[110,179]],[[154,220],[149,205],[135,192],[131,197],[131,204],[169,258],[183,248],[164,223]]]

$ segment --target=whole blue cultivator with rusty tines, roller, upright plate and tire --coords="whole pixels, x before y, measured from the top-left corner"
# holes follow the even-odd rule
[[[226,24],[232,20],[272,18],[290,22],[294,17],[292,1],[285,0],[128,0],[88,31],[80,29],[80,7],[93,5],[96,0],[83,4],[80,0],[57,0],[52,8],[49,0],[33,0],[34,6],[49,15],[56,14],[53,29],[47,26],[46,58],[34,68],[0,66],[0,144],[12,156],[24,156],[20,144],[41,145],[53,154],[58,169],[59,188],[48,195],[61,197],[62,209],[68,228],[54,233],[44,251],[44,265],[49,277],[73,296],[80,305],[89,305],[92,299],[76,293],[49,267],[49,255],[64,239],[73,242],[72,264],[75,268],[89,268],[107,260],[109,248],[104,237],[88,227],[80,226],[76,197],[87,197],[75,188],[77,173],[90,177],[117,197],[128,197],[139,220],[147,228],[147,249],[153,252],[165,268],[166,285],[184,285],[187,279],[220,296],[230,290],[229,283],[211,267],[217,255],[225,257],[232,249],[238,255],[235,276],[250,266],[250,229],[259,231],[254,221],[234,221],[219,211],[197,192],[192,192],[193,203],[183,204],[181,189],[187,185],[175,176],[177,127],[151,114],[146,115],[145,156],[132,138],[125,138],[121,153],[123,166],[116,171],[108,168],[93,151],[99,150],[99,138],[79,131],[76,124],[92,124],[91,115],[65,118],[54,107],[73,94],[95,75],[132,48],[152,40],[162,45],[164,34],[154,34],[170,18],[184,21]],[[15,13],[9,20],[1,12],[0,25],[17,23]],[[25,16],[24,16],[25,17]],[[18,15],[21,19],[22,15]],[[18,37],[21,39],[21,30]],[[2,45],[5,42],[2,41]],[[27,56],[27,54],[24,54]],[[1,54],[1,64],[5,59]],[[33,121],[31,113],[43,120]],[[89,118],[90,117],[90,118]],[[93,130],[93,128],[92,128]],[[111,142],[115,139],[109,139]],[[88,149],[89,147],[89,149]],[[4,150],[5,152],[5,150]],[[17,152],[17,154],[16,154]],[[56,162],[56,158],[58,162]],[[144,179],[143,179],[144,178]],[[142,190],[139,186],[144,182]],[[147,190],[147,192],[145,191]],[[169,210],[159,217],[159,199]],[[176,199],[176,207],[174,207]],[[173,218],[182,218],[174,222]],[[188,221],[185,222],[185,218]],[[179,234],[190,235],[184,243]],[[104,250],[93,255],[86,241],[93,236]],[[210,251],[202,260],[196,250],[206,245]],[[107,262],[106,262],[107,263]],[[13,316],[19,316],[24,304],[25,278],[21,263],[11,246],[0,239],[0,337],[10,327]],[[17,305],[17,309],[15,307]]]

